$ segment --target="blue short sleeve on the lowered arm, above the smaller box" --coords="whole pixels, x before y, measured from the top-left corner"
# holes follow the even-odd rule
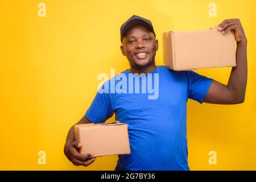
[[[109,93],[100,92],[97,92],[92,104],[85,113],[86,117],[94,123],[103,123],[113,114]]]

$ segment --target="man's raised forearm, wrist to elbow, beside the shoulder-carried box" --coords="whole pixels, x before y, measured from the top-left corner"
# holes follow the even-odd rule
[[[247,84],[247,40],[237,42],[236,64],[230,73],[228,89],[234,100],[243,101]]]

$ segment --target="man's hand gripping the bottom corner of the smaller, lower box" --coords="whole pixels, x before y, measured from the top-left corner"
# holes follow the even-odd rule
[[[90,153],[84,155],[80,154],[79,148],[81,147],[82,144],[79,142],[65,144],[64,154],[75,166],[89,166],[96,158],[92,158],[93,154]]]

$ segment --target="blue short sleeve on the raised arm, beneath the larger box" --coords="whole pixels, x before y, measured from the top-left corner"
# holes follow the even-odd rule
[[[193,71],[186,71],[188,76],[188,98],[203,103],[213,79]]]

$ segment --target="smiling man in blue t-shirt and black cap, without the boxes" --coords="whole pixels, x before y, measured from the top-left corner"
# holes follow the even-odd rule
[[[154,77],[146,84],[158,82],[158,97],[148,99],[150,93],[129,93],[134,84],[124,85],[126,93],[97,93],[84,117],[76,124],[102,123],[115,117],[128,123],[130,155],[119,155],[115,170],[189,170],[187,150],[187,101],[200,104],[240,104],[245,99],[247,82],[247,40],[239,19],[224,20],[217,27],[225,34],[232,30],[237,42],[236,64],[232,68],[228,85],[193,71],[172,71],[155,65],[158,40],[150,20],[131,16],[121,26],[121,51],[130,64],[130,69],[115,77],[129,75],[143,78]],[[185,52],[184,52],[185,53]],[[207,61],[207,60],[206,60]],[[110,79],[115,85],[121,79]],[[148,79],[146,79],[148,80]],[[106,88],[105,88],[106,89]],[[108,88],[111,89],[111,88]],[[123,89],[123,88],[122,88]],[[64,153],[76,166],[88,166],[96,158],[93,154],[81,155],[81,143],[75,142],[73,129],[69,130]]]

